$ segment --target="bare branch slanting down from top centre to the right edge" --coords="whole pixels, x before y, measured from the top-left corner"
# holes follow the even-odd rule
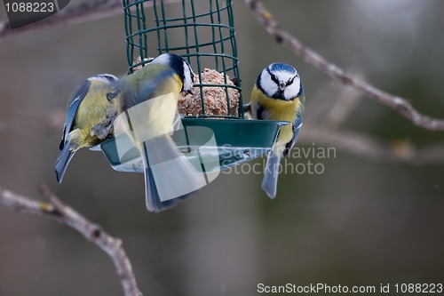
[[[444,120],[422,115],[416,110],[416,108],[413,108],[407,100],[381,91],[375,86],[346,73],[342,68],[337,67],[335,64],[323,58],[319,53],[314,52],[312,49],[305,46],[305,44],[302,44],[295,36],[292,36],[289,32],[279,27],[278,23],[274,20],[273,15],[266,10],[261,1],[244,1],[248,7],[250,7],[251,12],[253,12],[259,23],[266,28],[266,31],[271,36],[274,36],[276,42],[289,47],[292,52],[305,60],[305,62],[320,69],[325,74],[337,78],[343,84],[352,86],[369,98],[377,100],[379,103],[396,110],[417,126],[432,131],[444,131]]]

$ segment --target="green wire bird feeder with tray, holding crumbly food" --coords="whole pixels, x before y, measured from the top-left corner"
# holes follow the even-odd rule
[[[184,153],[200,148],[186,154],[192,164],[208,158],[213,164],[205,170],[218,171],[273,148],[281,126],[289,123],[244,118],[233,1],[123,0],[123,13],[129,74],[165,52],[182,56],[196,72],[194,95],[178,99],[185,132],[172,136]],[[116,171],[143,172],[137,149],[125,159],[119,155],[116,140],[131,141],[120,137],[96,149]]]

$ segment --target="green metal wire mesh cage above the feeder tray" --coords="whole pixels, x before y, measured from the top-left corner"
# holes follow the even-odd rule
[[[146,5],[149,8],[145,10],[144,4],[151,5]],[[214,67],[224,74],[224,84],[194,84],[201,89],[202,116],[199,117],[243,118],[233,0],[182,0],[177,5],[165,4],[163,0],[123,0],[123,13],[129,73],[149,62],[146,60],[149,57],[164,52],[173,52],[188,60],[201,81],[203,68]],[[134,63],[138,57],[140,62]],[[227,76],[237,83],[228,84]],[[202,91],[207,87],[225,90],[226,115],[205,114]],[[240,93],[238,116],[234,116],[230,108],[230,88]]]

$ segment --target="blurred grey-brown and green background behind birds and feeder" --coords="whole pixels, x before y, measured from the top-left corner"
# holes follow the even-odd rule
[[[82,1],[72,0],[71,4]],[[264,1],[281,27],[345,70],[444,117],[444,3],[440,0]],[[0,20],[6,20],[4,6]],[[234,1],[244,100],[260,70],[294,65],[305,85],[305,121],[323,123],[345,87],[276,44]],[[67,99],[84,78],[128,67],[123,15],[0,39],[0,186],[59,198],[123,239],[145,295],[255,295],[259,283],[442,283],[444,164],[375,161],[336,148],[318,173],[281,175],[278,196],[262,174],[221,174],[167,212],[147,212],[141,174],[113,171],[104,156],[75,155],[59,185]],[[387,145],[443,143],[392,109],[355,95],[340,126]],[[310,142],[301,148],[333,145]],[[255,163],[263,163],[257,159]],[[123,295],[113,263],[71,228],[0,207],[0,295]],[[392,291],[391,291],[392,292]]]

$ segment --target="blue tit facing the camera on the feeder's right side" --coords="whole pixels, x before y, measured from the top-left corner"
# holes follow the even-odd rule
[[[253,119],[291,123],[281,127],[274,148],[266,160],[262,188],[271,198],[276,196],[281,157],[289,154],[302,126],[303,93],[297,70],[288,64],[273,63],[259,74],[251,92],[250,104],[244,106],[246,116]]]

